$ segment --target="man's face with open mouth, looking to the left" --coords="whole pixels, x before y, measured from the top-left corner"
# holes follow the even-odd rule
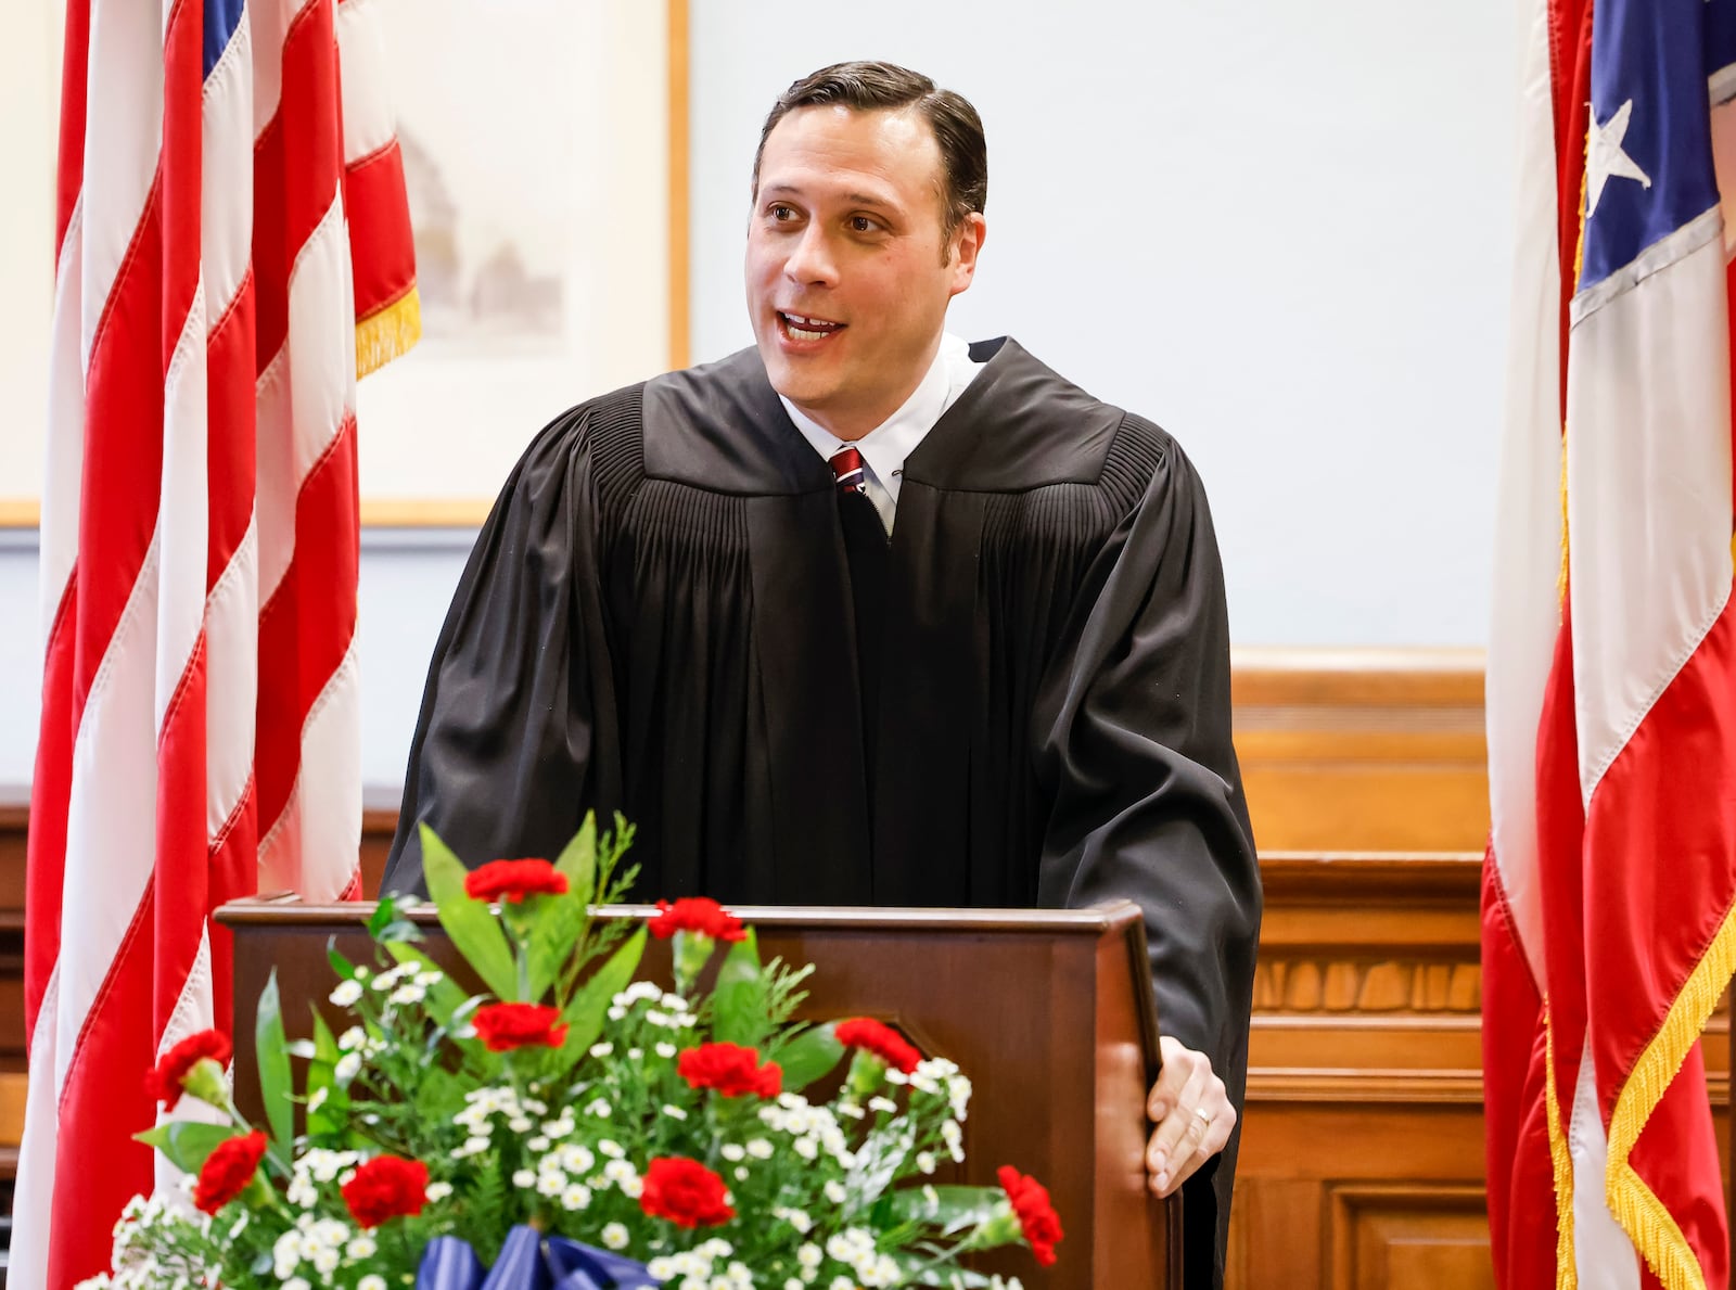
[[[773,387],[840,439],[891,417],[970,285],[983,217],[943,238],[941,149],[910,111],[797,108],[766,139],[748,224],[753,337]]]

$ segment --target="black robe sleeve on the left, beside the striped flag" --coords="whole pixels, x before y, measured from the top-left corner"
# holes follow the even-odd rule
[[[597,741],[613,722],[587,408],[547,425],[477,536],[434,646],[385,866],[425,892],[417,825],[469,865],[554,858],[618,802]]]

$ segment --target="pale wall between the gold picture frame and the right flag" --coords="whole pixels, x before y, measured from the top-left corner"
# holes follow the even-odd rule
[[[752,340],[771,101],[838,59],[906,63],[990,139],[953,328],[1017,335],[1182,441],[1234,639],[1483,644],[1514,23],[1489,0],[694,0],[694,359]]]

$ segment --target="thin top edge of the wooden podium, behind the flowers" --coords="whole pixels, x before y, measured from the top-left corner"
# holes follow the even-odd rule
[[[330,927],[332,924],[365,924],[375,901],[344,901],[339,905],[306,905],[293,892],[279,896],[252,896],[222,905],[215,918],[226,927]],[[932,931],[950,927],[970,932],[1049,932],[1061,936],[1102,936],[1120,931],[1130,922],[1141,922],[1139,906],[1127,899],[1108,901],[1085,910],[948,910],[948,908],[880,908],[880,906],[795,906],[795,905],[726,905],[741,922],[779,931],[877,929],[877,931]],[[654,905],[604,905],[597,908],[602,918],[648,918]],[[437,925],[439,918],[429,903],[408,910],[406,917],[418,924]]]

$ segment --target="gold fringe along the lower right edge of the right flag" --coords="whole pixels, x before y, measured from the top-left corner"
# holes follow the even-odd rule
[[[1616,1109],[1609,1116],[1609,1165],[1604,1172],[1604,1196],[1616,1222],[1627,1231],[1653,1276],[1663,1281],[1667,1290],[1705,1290],[1705,1271],[1670,1210],[1634,1172],[1628,1156],[1651,1113],[1663,1101],[1670,1082],[1687,1061],[1687,1050],[1705,1031],[1706,1017],[1712,1016],[1733,971],[1736,971],[1736,908],[1726,912],[1712,944],[1694,964],[1694,971],[1687,974],[1687,981],[1675,1002],[1670,1004],[1658,1033],[1641,1052],[1634,1070],[1628,1071],[1627,1082],[1616,1096]]]

